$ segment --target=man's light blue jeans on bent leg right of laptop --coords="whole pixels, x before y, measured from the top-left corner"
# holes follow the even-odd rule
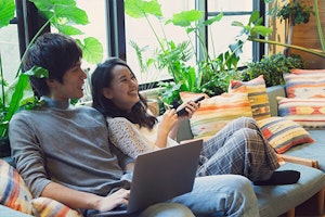
[[[251,182],[238,175],[205,176],[195,179],[193,191],[169,202],[187,206],[195,216],[259,216]]]

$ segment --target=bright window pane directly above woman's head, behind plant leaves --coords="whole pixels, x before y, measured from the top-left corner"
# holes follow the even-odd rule
[[[194,9],[193,0],[182,1],[159,1],[161,4],[162,17],[171,18],[172,14],[180,13],[182,11],[188,11]],[[177,43],[188,40],[184,28],[176,27],[172,24],[164,25],[166,20],[159,21],[156,17],[151,16],[150,22],[157,31],[159,39],[164,38],[164,34],[168,40],[172,40]],[[164,27],[162,27],[164,26]],[[165,31],[161,29],[164,28]],[[162,79],[171,78],[167,71],[158,72],[155,67],[148,69],[150,73],[141,73],[136,53],[131,47],[130,41],[135,41],[140,48],[147,47],[143,60],[147,60],[153,55],[156,48],[159,48],[159,43],[151,30],[145,18],[132,18],[126,14],[126,48],[127,48],[127,62],[133,69],[140,84],[146,84]]]

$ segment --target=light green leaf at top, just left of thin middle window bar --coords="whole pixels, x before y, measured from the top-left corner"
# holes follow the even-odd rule
[[[191,26],[192,22],[197,22],[203,17],[204,12],[197,10],[183,11],[181,13],[177,13],[172,15],[172,20],[170,20],[173,25],[187,27]]]

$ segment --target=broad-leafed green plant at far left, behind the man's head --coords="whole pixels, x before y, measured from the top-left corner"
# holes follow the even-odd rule
[[[20,108],[30,110],[41,103],[32,92],[28,81],[28,76],[48,77],[48,71],[41,67],[32,67],[28,72],[22,69],[22,63],[25,54],[41,34],[47,25],[55,27],[60,33],[74,36],[81,35],[82,31],[72,26],[70,24],[88,24],[87,13],[77,8],[76,2],[72,1],[42,1],[29,0],[35,3],[38,12],[47,20],[46,24],[38,30],[31,39],[29,46],[22,58],[21,64],[17,68],[16,78],[8,85],[2,71],[1,52],[0,52],[0,76],[1,76],[1,100],[0,100],[0,154],[10,155],[10,145],[8,141],[8,126],[13,114]],[[14,17],[15,3],[14,0],[0,0],[0,28],[9,25],[10,21]],[[89,63],[99,63],[103,58],[103,48],[98,39],[88,37],[83,41],[76,38],[77,42],[82,49],[83,59]],[[13,72],[14,73],[14,72]],[[1,142],[3,140],[3,142]]]

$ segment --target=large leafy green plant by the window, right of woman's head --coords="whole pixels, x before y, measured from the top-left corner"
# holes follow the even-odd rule
[[[160,86],[165,87],[165,91],[161,94],[165,103],[178,102],[180,100],[180,91],[217,94],[226,90],[225,84],[235,73],[226,74],[225,72],[236,69],[243,42],[238,39],[229,46],[226,52],[211,56],[208,53],[205,40],[199,35],[200,29],[219,22],[223,16],[222,13],[204,21],[204,12],[191,10],[176,13],[172,17],[166,18],[157,0],[126,0],[125,10],[133,18],[144,18],[159,44],[156,49],[156,54],[144,60],[142,55],[143,49],[132,41],[142,71],[154,64],[159,71],[167,68],[172,76],[172,81],[160,82]],[[158,35],[158,29],[153,27],[152,18],[156,18],[161,23],[161,35]],[[166,36],[164,29],[166,25],[183,28],[188,36],[188,40],[176,43],[172,38]],[[198,54],[193,41],[190,39],[192,34],[199,41],[202,55]]]

